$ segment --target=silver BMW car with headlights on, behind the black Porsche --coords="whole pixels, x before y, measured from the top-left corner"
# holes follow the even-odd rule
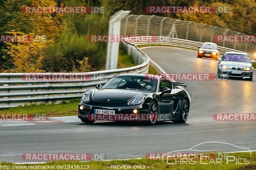
[[[226,52],[220,60],[218,67],[219,78],[241,78],[252,81],[253,67],[246,53]]]

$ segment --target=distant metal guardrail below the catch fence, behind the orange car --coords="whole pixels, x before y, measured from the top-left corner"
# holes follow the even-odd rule
[[[201,46],[202,42],[197,41],[190,41],[190,40],[183,40],[179,38],[172,38],[172,37],[163,37],[163,36],[152,36],[152,39],[150,42],[132,42],[135,45],[167,45],[172,47],[181,47],[181,48],[189,48],[189,49],[198,49],[198,46]],[[218,49],[220,49],[220,54],[223,55],[225,52],[232,51],[232,52],[243,52],[231,48],[221,47],[218,46]],[[256,59],[254,54],[247,53],[248,56],[252,59]]]

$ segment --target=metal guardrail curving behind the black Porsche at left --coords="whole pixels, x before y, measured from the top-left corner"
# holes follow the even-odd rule
[[[124,49],[132,55],[137,66],[93,71],[86,73],[0,73],[0,108],[16,107],[35,102],[67,100],[81,97],[81,93],[95,85],[105,84],[109,78],[121,73],[147,73],[149,58],[136,45],[122,42]],[[35,74],[41,77],[49,75],[84,75],[87,78],[78,80],[26,80],[26,75]]]

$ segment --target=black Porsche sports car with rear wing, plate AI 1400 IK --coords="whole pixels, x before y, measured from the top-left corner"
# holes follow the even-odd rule
[[[84,92],[78,118],[88,124],[96,120],[185,123],[189,98],[176,86],[187,87],[187,83],[170,82],[158,75],[119,74]]]

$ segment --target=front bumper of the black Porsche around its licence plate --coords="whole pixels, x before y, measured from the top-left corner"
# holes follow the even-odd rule
[[[80,106],[84,108],[81,110]],[[104,109],[104,110],[115,110],[116,117],[120,118],[120,120],[127,120],[127,117],[120,117],[119,115],[129,115],[133,114],[133,110],[137,109],[137,114],[148,114],[149,103],[142,103],[139,105],[128,105],[125,103],[110,103],[110,102],[83,102],[80,101],[78,104],[78,118],[80,119],[88,119],[92,115],[95,115],[94,109]],[[98,114],[99,115],[99,114]],[[101,114],[104,115],[104,114]],[[116,120],[115,120],[116,121]],[[136,121],[136,120],[135,120]],[[139,121],[139,119],[138,119]]]

